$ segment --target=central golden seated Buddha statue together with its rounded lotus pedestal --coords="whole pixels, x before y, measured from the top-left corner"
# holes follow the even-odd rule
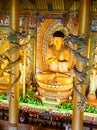
[[[45,95],[47,97],[49,94],[46,95],[46,91],[49,91],[50,94],[60,100],[71,95],[73,87],[73,58],[73,54],[64,44],[64,33],[56,31],[53,34],[53,44],[48,45],[47,48],[46,70],[38,72],[35,76],[40,86],[38,89],[41,96]],[[55,94],[56,92],[58,95]]]

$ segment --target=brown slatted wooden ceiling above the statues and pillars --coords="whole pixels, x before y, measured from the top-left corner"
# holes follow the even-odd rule
[[[19,0],[20,13],[65,14],[77,13],[80,0]],[[0,0],[0,12],[9,12],[10,0]],[[97,13],[97,0],[91,0],[91,12]]]

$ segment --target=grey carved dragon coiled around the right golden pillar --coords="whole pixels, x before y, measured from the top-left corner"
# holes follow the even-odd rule
[[[78,47],[78,49],[74,50],[70,47],[70,44],[76,44],[76,46]],[[69,47],[70,51],[76,56],[77,60],[80,60],[83,63],[87,63],[89,61],[89,59],[87,57],[82,56],[82,52],[85,51],[86,49],[86,40],[82,37],[79,36],[75,36],[70,34],[67,38],[65,38],[65,44]],[[74,66],[73,70],[75,75],[78,77],[78,81],[77,81],[77,85],[79,85],[80,87],[82,87],[83,83],[86,84],[86,86],[89,86],[89,83],[87,81],[87,71],[90,69],[91,67],[86,66],[82,72],[78,71],[76,69],[76,66]],[[77,93],[78,96],[81,97],[81,102],[78,102],[78,106],[77,109],[78,110],[84,110],[85,107],[85,101],[86,98],[85,96],[76,88],[76,85],[74,83],[74,91]]]

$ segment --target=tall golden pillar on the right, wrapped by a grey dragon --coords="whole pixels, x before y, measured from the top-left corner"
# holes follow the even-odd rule
[[[90,25],[90,0],[80,0],[80,17],[79,17],[79,35],[85,34],[85,38],[87,39],[88,43],[88,36],[89,36],[89,25]],[[87,56],[87,50],[84,52],[85,56]],[[77,61],[76,68],[79,71],[82,71],[85,64],[83,62]],[[76,84],[77,78],[75,79]],[[77,85],[77,89],[82,93],[85,94],[85,85],[80,86]],[[81,98],[75,93],[74,94],[74,108],[73,108],[73,118],[72,118],[72,130],[83,130],[83,113],[84,111],[77,110],[78,102],[81,101]]]

